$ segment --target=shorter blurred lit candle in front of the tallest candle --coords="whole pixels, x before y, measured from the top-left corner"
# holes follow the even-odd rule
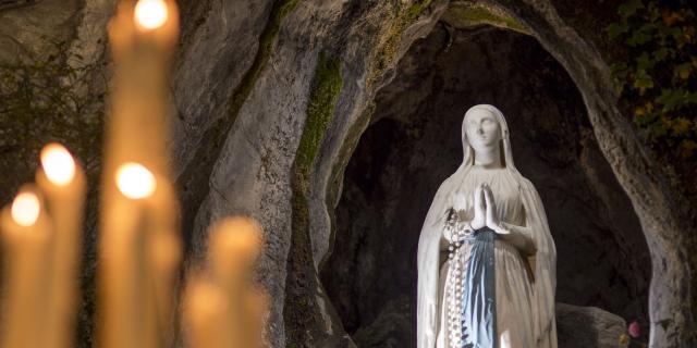
[[[112,202],[112,213],[121,219],[110,226],[109,247],[102,249],[110,265],[105,345],[168,346],[181,258],[176,200],[167,181],[139,163],[121,165],[113,182],[121,199]]]

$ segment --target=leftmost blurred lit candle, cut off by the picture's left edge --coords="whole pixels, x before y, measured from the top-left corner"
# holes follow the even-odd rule
[[[47,347],[51,222],[34,186],[24,186],[0,216],[3,260],[2,347]]]

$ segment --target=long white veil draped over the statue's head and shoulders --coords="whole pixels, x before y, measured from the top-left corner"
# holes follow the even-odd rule
[[[501,128],[502,163],[517,178],[521,198],[526,213],[526,223],[533,232],[537,247],[535,256],[528,259],[535,274],[533,284],[531,313],[537,348],[557,348],[557,325],[554,320],[554,288],[557,286],[557,249],[549,232],[547,214],[535,186],[517,171],[513,163],[509,127],[499,109],[489,104],[472,107],[465,113],[462,125],[463,162],[453,175],[447,178],[436,192],[433,201],[421,227],[418,240],[418,289],[417,289],[417,348],[435,348],[439,331],[440,313],[438,302],[439,274],[443,262],[440,258],[442,231],[445,212],[453,207],[453,195],[474,164],[474,150],[467,141],[465,120],[477,109],[491,112]]]

